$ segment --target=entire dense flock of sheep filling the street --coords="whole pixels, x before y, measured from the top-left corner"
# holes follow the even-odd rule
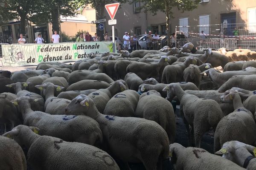
[[[188,43],[2,70],[0,169],[161,170],[171,161],[169,170],[256,170],[254,59]],[[191,147],[174,143],[175,103]],[[209,130],[215,154],[201,148]]]

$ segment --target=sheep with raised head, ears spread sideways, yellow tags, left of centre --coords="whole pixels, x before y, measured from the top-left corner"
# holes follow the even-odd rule
[[[65,107],[70,103],[68,99],[59,99],[54,96],[54,91],[62,91],[64,87],[57,86],[51,82],[46,82],[43,85],[36,85],[36,88],[43,91],[45,96],[44,110],[49,114],[63,114]]]

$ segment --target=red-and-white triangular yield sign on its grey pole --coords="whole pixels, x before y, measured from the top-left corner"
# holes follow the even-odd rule
[[[116,24],[116,20],[114,20],[114,17],[116,15],[116,11],[119,7],[120,3],[111,3],[111,4],[107,4],[105,5],[105,8],[108,11],[108,14],[111,18],[111,20],[108,20],[108,25],[112,25],[112,41],[113,41],[113,52],[115,51],[115,29],[114,29],[114,25]]]

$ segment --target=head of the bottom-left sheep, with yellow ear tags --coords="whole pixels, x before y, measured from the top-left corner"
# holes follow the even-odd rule
[[[26,126],[26,125],[17,125],[14,127],[11,131],[4,133],[2,136],[6,136],[11,139],[15,139],[15,141],[22,145],[26,145],[27,142],[23,141],[24,135],[28,135],[29,133],[36,133],[38,134],[39,128],[37,127],[32,127],[32,126]],[[29,138],[29,136],[25,136],[25,138]]]

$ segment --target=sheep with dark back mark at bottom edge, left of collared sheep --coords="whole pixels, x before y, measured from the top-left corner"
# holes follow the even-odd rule
[[[175,162],[175,170],[244,170],[237,164],[196,147],[170,144],[170,155]]]

